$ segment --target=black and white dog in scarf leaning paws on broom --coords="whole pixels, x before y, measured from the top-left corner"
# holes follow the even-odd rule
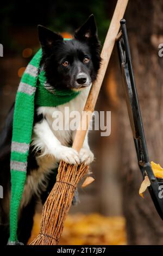
[[[63,41],[62,36],[39,26],[39,40],[47,82],[53,88],[81,90],[80,94],[64,105],[38,107],[35,109],[34,128],[28,157],[27,181],[21,202],[18,221],[18,240],[27,243],[33,226],[37,200],[44,203],[54,185],[53,170],[60,160],[76,164],[93,161],[87,137],[78,154],[71,148],[75,131],[53,130],[52,114],[65,106],[71,111],[82,112],[91,84],[96,80],[101,63],[100,44],[94,16],[91,15],[74,33],[74,39]],[[9,238],[10,203],[10,149],[14,106],[11,108],[3,131],[0,134],[0,185],[4,198],[0,199],[0,243],[7,244]],[[64,117],[65,120],[67,117]]]

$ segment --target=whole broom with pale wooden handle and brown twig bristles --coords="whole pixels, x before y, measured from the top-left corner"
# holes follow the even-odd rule
[[[101,52],[102,64],[95,83],[93,83],[84,107],[84,114],[80,120],[80,127],[72,145],[78,152],[83,146],[84,138],[89,127],[92,112],[94,111],[99,90],[101,88],[106,68],[109,63],[116,36],[120,29],[120,20],[123,18],[128,0],[118,0],[112,17],[108,33]],[[82,130],[84,125],[84,129]],[[86,128],[86,129],[85,129]],[[57,181],[49,194],[42,211],[40,233],[30,245],[58,245],[64,227],[68,210],[70,209],[74,191],[79,181],[89,171],[84,163],[77,165],[60,162]]]

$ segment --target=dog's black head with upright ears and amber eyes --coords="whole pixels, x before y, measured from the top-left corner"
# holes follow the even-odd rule
[[[101,58],[93,15],[77,29],[72,40],[64,40],[40,25],[38,30],[42,64],[52,87],[79,90],[96,80]]]

